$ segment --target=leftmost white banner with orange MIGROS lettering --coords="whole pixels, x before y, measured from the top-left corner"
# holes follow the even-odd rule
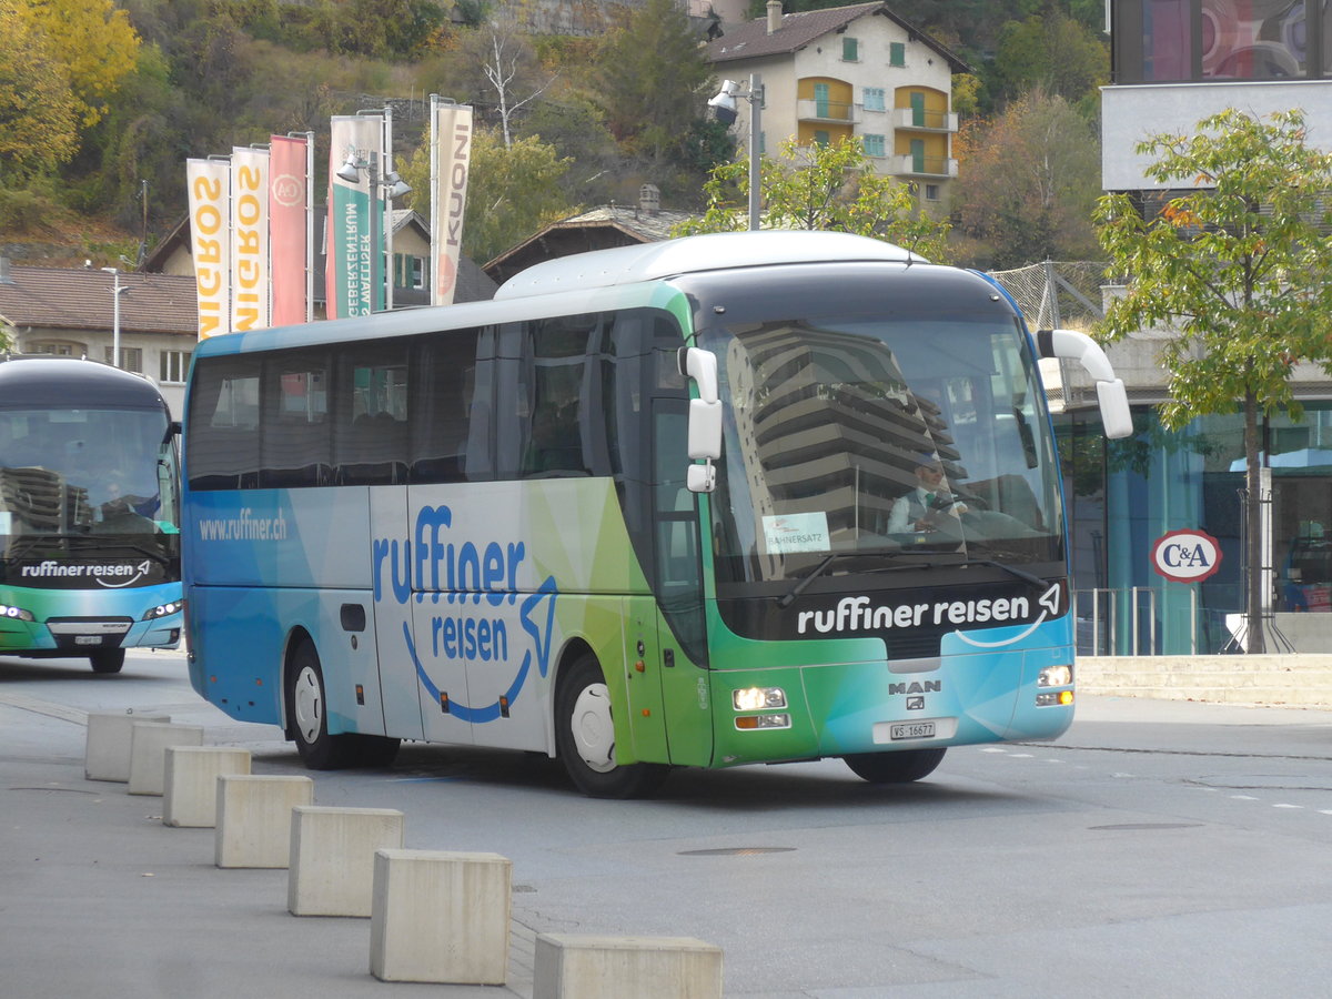
[[[200,340],[232,332],[230,169],[226,160],[185,161]]]

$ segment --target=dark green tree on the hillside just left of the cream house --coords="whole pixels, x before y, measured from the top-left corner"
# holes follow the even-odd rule
[[[679,157],[710,77],[677,0],[647,0],[597,55],[595,100],[618,141],[655,160]]]

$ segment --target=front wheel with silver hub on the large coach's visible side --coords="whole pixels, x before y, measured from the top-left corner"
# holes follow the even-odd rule
[[[589,798],[641,798],[655,791],[670,767],[615,762],[610,693],[590,653],[574,659],[555,689],[555,751],[574,786]]]

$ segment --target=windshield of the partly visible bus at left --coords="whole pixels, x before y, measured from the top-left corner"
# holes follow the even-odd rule
[[[174,448],[153,409],[0,409],[0,554],[83,538],[174,553]]]

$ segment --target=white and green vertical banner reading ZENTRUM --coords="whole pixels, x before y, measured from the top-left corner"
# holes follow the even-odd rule
[[[328,317],[369,316],[378,308],[384,292],[372,297],[373,260],[384,240],[382,206],[370,193],[370,170],[356,172],[354,181],[338,176],[349,159],[382,163],[384,119],[334,115],[329,147],[328,224]],[[372,217],[370,212],[376,210]],[[374,246],[373,244],[380,244]],[[372,302],[374,306],[372,308]]]

